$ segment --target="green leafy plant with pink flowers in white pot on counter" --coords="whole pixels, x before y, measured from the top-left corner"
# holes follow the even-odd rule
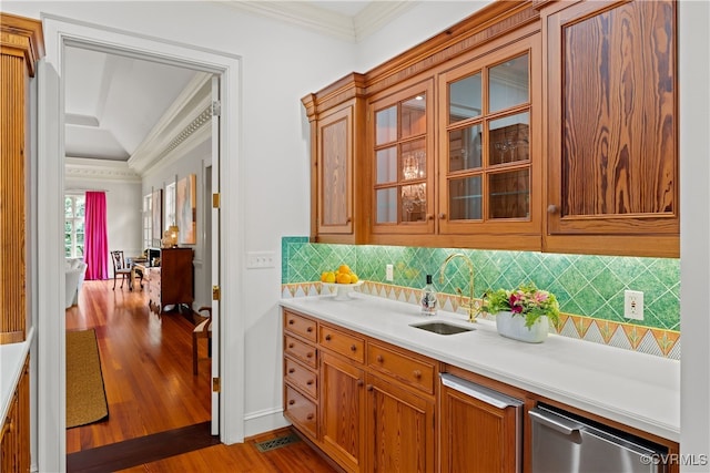
[[[559,322],[559,302],[554,294],[538,289],[535,284],[521,285],[515,290],[489,290],[484,295],[483,310],[496,315],[509,310],[513,316],[525,317],[525,326],[532,325],[542,316],[556,326]]]

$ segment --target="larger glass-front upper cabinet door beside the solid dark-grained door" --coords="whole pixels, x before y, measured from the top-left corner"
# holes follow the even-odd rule
[[[439,233],[539,229],[537,44],[524,39],[439,75]]]

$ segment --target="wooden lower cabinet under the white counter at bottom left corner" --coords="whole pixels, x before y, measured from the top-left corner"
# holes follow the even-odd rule
[[[10,408],[0,430],[0,471],[30,471],[30,374],[29,359],[12,394]]]

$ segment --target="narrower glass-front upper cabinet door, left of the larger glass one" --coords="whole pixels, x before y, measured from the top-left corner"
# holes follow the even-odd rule
[[[433,82],[369,102],[373,233],[434,230]]]

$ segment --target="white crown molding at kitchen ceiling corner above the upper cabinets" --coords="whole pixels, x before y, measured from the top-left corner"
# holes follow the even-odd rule
[[[371,1],[359,13],[351,17],[316,7],[317,2],[263,0],[212,1],[237,10],[285,21],[349,42],[361,41],[392,21],[393,18],[418,3],[417,0]]]

